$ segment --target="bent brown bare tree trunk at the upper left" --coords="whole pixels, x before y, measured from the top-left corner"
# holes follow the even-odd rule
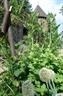
[[[14,48],[14,42],[13,42],[13,34],[11,29],[11,9],[9,8],[9,2],[7,0],[4,0],[4,8],[5,8],[5,14],[2,24],[2,30],[5,34],[8,34],[8,40],[11,48],[11,54],[12,56],[15,56],[15,48]]]

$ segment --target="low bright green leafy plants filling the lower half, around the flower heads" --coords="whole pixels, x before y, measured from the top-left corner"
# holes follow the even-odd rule
[[[4,93],[10,96],[21,94],[22,82],[29,79],[35,86],[35,91],[41,96],[47,92],[46,86],[39,79],[39,70],[42,67],[51,68],[56,73],[55,85],[57,91],[63,91],[63,60],[56,57],[49,48],[46,50],[39,44],[33,44],[17,56],[18,59],[7,58],[8,72],[3,74],[0,84]],[[5,95],[3,95],[5,96]]]

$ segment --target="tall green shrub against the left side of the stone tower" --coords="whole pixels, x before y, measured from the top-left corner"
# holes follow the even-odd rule
[[[29,15],[28,21],[25,23],[28,29],[28,43],[33,45],[33,43],[44,44],[44,33],[42,27],[38,24],[38,18],[35,13]]]

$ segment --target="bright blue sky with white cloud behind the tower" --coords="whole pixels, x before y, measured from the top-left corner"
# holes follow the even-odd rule
[[[63,0],[29,0],[32,4],[33,10],[37,5],[39,5],[43,11],[48,14],[52,12],[56,14],[56,22],[57,24],[61,24],[59,27],[59,32],[63,31],[63,16],[60,14],[60,9],[63,5]]]

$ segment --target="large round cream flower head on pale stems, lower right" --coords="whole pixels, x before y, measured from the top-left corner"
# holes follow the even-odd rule
[[[54,80],[55,73],[51,69],[42,68],[39,71],[39,77],[40,77],[41,81],[48,82],[49,80]]]

